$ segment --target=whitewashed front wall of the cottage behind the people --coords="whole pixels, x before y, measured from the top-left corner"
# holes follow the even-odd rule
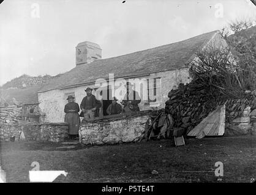
[[[190,82],[189,69],[181,68],[173,71],[152,73],[145,77],[138,77],[137,79],[141,80],[159,77],[161,79],[160,101],[156,102],[154,106],[156,106],[157,108],[164,108],[165,102],[168,100],[168,91],[170,91],[170,89],[172,89],[174,86],[178,87],[179,83],[186,84]],[[146,80],[144,82],[146,82]],[[39,107],[40,110],[45,113],[44,122],[64,121],[64,105],[67,104],[67,95],[75,95],[75,102],[80,105],[82,99],[86,96],[85,88],[87,87],[95,88],[94,84],[92,84],[81,87],[66,88],[63,90],[51,90],[39,93]],[[141,101],[139,107],[140,110],[152,109],[152,107],[148,104],[148,101]]]

